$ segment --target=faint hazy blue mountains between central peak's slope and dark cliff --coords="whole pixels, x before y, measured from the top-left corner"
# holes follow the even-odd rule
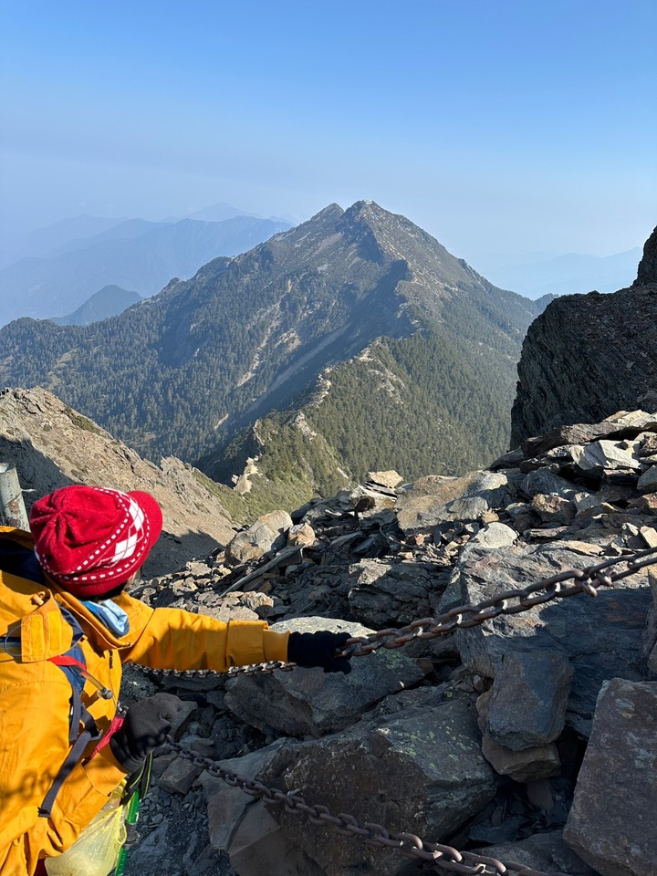
[[[473,263],[497,286],[513,289],[520,295],[539,298],[545,295],[615,292],[631,286],[641,258],[639,246],[617,255],[477,255]]]

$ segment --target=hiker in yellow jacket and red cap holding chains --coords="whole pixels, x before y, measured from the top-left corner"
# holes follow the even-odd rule
[[[263,661],[350,671],[348,633],[151,609],[126,592],[162,531],[141,492],[72,485],[39,499],[31,534],[0,527],[0,873],[46,873],[125,777],[162,745],[180,700],[117,717],[122,663],[209,669]],[[54,864],[54,861],[53,861]]]

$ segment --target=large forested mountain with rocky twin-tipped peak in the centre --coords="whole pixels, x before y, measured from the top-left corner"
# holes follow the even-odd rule
[[[542,308],[403,216],[331,204],[111,320],[16,320],[0,330],[0,381],[55,391],[151,459],[226,482],[253,454],[286,489],[383,460],[455,474],[506,450]]]

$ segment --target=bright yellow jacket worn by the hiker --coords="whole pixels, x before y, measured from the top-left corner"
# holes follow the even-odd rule
[[[30,549],[32,537],[0,527],[0,539]],[[287,660],[288,633],[265,621],[221,620],[179,609],[151,609],[121,594],[115,599],[130,619],[130,632],[116,638],[75,597],[51,579],[36,583],[0,571],[0,874],[32,876],[37,861],[68,849],[105,805],[124,777],[110,746],[85,757],[60,788],[50,818],[38,807],[70,750],[71,685],[48,661],[68,650],[71,628],[60,607],[71,611],[85,636],[80,641],[91,675],[113,699],[85,684],[82,701],[103,732],[116,713],[122,663],[155,669],[211,669],[263,660]],[[20,654],[4,647],[20,636]]]

